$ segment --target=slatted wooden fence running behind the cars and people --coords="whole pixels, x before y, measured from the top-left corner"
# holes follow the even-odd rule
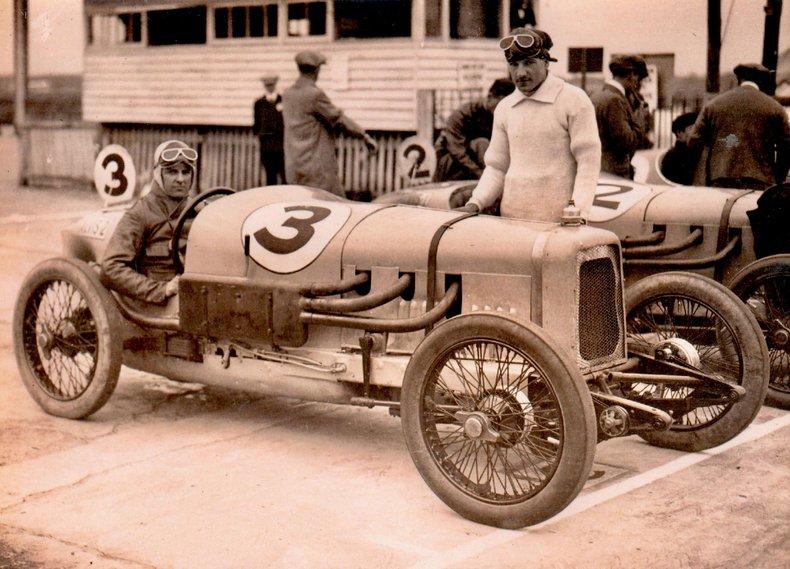
[[[482,96],[480,90],[428,91],[434,132],[461,103]],[[673,100],[671,108],[654,115],[654,142],[659,148],[672,144],[672,120],[684,112],[697,111],[702,100]],[[425,129],[430,131],[431,128]],[[359,139],[338,140],[338,171],[348,195],[376,197],[403,187],[397,172],[397,148],[411,133],[378,133],[379,150],[369,154]],[[126,148],[138,177],[150,172],[153,154],[161,142],[178,138],[193,145],[200,154],[198,183],[201,188],[230,186],[246,189],[260,186],[265,176],[258,158],[258,139],[248,128],[169,128],[145,125],[95,125],[90,123],[38,122],[23,130],[23,172],[31,184],[93,181],[93,163],[99,149],[116,143]]]

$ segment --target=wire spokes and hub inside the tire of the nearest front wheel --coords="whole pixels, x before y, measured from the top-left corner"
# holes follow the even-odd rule
[[[508,504],[545,487],[562,452],[564,425],[545,373],[528,355],[472,340],[447,350],[428,377],[426,445],[459,489]]]

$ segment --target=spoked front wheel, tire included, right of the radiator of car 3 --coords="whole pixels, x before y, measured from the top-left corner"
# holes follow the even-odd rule
[[[699,451],[730,440],[751,423],[767,390],[767,349],[754,317],[731,291],[701,275],[661,273],[626,290],[626,309],[631,349],[662,349],[677,362],[746,389],[738,402],[706,405],[691,387],[633,384],[632,394],[642,401],[687,403],[687,410],[670,413],[674,422],[668,431],[640,436],[656,446]]]

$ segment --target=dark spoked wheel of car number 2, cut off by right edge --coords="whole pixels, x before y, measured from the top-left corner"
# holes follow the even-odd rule
[[[730,288],[757,318],[768,344],[771,379],[765,402],[790,409],[790,255],[750,263]]]

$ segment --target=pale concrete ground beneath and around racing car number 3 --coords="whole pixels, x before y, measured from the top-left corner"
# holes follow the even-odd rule
[[[788,567],[790,413],[727,445],[599,445],[562,514],[497,530],[422,482],[385,411],[124,369],[85,421],[25,391],[10,322],[26,272],[90,193],[21,189],[0,137],[0,567]]]

